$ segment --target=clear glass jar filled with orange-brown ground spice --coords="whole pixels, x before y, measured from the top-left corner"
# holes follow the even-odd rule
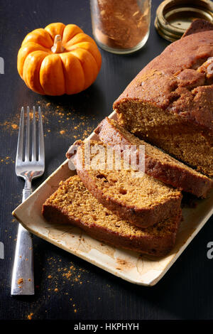
[[[111,53],[133,53],[148,40],[151,0],[90,0],[92,32]]]

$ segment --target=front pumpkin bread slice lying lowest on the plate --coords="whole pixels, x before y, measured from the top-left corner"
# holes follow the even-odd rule
[[[104,208],[78,176],[61,182],[58,190],[45,201],[42,212],[49,222],[72,224],[115,247],[156,257],[173,249],[181,217],[179,210],[175,217],[143,230]]]

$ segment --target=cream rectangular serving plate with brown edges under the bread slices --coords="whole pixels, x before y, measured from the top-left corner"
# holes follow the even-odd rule
[[[109,118],[116,119],[116,113],[112,112]],[[92,132],[87,139],[97,139],[97,135]],[[183,208],[175,247],[166,257],[155,258],[111,247],[89,237],[77,227],[51,224],[43,218],[41,208],[45,200],[58,188],[60,181],[75,174],[68,161],[18,205],[13,215],[34,235],[133,284],[153,286],[158,283],[213,213],[213,191],[207,199],[197,200],[196,208]]]

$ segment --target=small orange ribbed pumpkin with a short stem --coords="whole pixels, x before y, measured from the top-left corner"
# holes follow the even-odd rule
[[[19,75],[42,95],[82,92],[96,80],[101,64],[96,43],[75,24],[35,29],[18,51]]]

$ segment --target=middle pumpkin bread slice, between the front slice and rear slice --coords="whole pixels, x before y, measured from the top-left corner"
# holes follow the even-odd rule
[[[85,143],[77,141],[75,145],[79,146],[74,159],[78,176],[90,193],[121,219],[138,227],[148,227],[178,215],[182,200],[179,190],[145,173],[134,171],[131,166],[126,168],[123,158],[121,166],[116,169],[115,151],[113,157],[108,156],[113,161],[109,168],[109,146],[102,142],[89,141],[91,166],[88,166]],[[92,153],[96,149],[99,151]],[[100,151],[104,152],[102,161]]]

